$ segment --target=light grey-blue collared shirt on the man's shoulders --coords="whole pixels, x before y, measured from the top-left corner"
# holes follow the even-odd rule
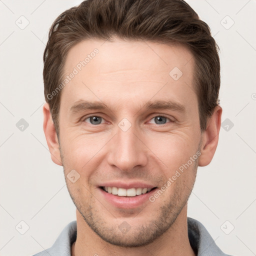
[[[197,256],[230,256],[216,245],[206,228],[196,219],[187,217],[188,238]],[[71,245],[76,240],[76,220],[67,224],[54,244],[33,256],[71,256]]]

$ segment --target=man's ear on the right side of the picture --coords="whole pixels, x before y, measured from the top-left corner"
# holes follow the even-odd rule
[[[218,134],[221,124],[222,108],[217,105],[207,121],[207,127],[202,132],[201,154],[198,159],[199,166],[210,163],[218,144]]]

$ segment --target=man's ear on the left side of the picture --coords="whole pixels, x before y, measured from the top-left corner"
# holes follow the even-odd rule
[[[51,118],[48,103],[44,103],[43,105],[43,131],[50,151],[51,160],[58,165],[62,165],[57,133]]]

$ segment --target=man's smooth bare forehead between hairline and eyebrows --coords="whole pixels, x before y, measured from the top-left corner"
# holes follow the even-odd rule
[[[66,57],[61,101],[124,102],[176,97],[191,102],[193,56],[184,46],[114,38],[83,40]],[[70,74],[72,78],[70,78]],[[193,101],[192,100],[192,101]]]

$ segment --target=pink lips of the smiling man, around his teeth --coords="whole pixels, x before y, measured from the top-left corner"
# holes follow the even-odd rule
[[[134,184],[133,184],[134,185]],[[116,185],[108,185],[108,186],[116,186]],[[121,186],[119,186],[121,187]],[[135,186],[132,186],[135,187]],[[141,186],[137,186],[141,187]],[[146,186],[142,186],[146,187]],[[123,187],[125,188],[125,187]],[[129,187],[128,187],[129,188]],[[153,188],[153,187],[152,187]],[[126,188],[127,189],[127,188]],[[149,201],[149,196],[151,196],[157,187],[152,189],[151,191],[145,193],[145,194],[140,194],[136,196],[118,196],[114,194],[110,194],[103,190],[102,188],[98,187],[100,195],[111,205],[115,206],[116,208],[122,208],[122,209],[132,209],[132,208],[137,208],[143,204],[150,203]]]

